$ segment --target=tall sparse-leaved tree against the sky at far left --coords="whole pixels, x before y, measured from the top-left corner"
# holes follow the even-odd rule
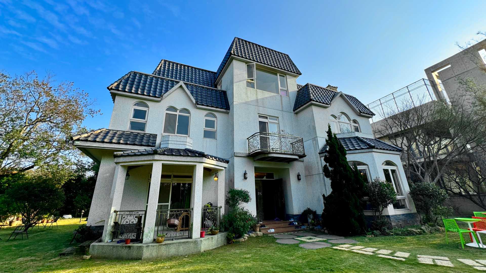
[[[0,175],[68,164],[79,151],[65,139],[99,113],[92,105],[85,91],[73,83],[54,85],[50,74],[12,78],[0,72]]]

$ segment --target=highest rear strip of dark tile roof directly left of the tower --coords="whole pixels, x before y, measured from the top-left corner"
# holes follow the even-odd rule
[[[161,60],[152,74],[209,87],[214,87],[214,82],[216,81],[216,72],[214,71],[195,68],[168,60]]]

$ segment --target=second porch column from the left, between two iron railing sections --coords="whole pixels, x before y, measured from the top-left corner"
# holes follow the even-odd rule
[[[158,190],[160,188],[160,176],[162,175],[162,162],[155,161],[152,164],[152,178],[150,179],[149,198],[147,212],[145,213],[145,228],[143,229],[142,243],[154,241],[155,222],[157,217]]]

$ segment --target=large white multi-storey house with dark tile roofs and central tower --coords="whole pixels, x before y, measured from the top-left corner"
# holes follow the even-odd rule
[[[307,207],[320,214],[331,191],[328,123],[366,179],[396,187],[384,215],[416,222],[400,150],[373,138],[374,113],[335,86],[298,85],[300,74],[289,55],[235,38],[216,72],[162,60],[152,74],[130,71],[109,85],[109,129],[72,137],[101,164],[87,225],[103,229],[103,242],[197,239],[225,212],[230,188],[250,192],[245,206],[261,221]]]

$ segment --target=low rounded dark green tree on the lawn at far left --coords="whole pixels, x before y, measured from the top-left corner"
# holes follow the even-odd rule
[[[9,214],[20,214],[26,223],[54,213],[64,202],[64,192],[56,181],[40,176],[19,176],[4,194],[0,206]]]

